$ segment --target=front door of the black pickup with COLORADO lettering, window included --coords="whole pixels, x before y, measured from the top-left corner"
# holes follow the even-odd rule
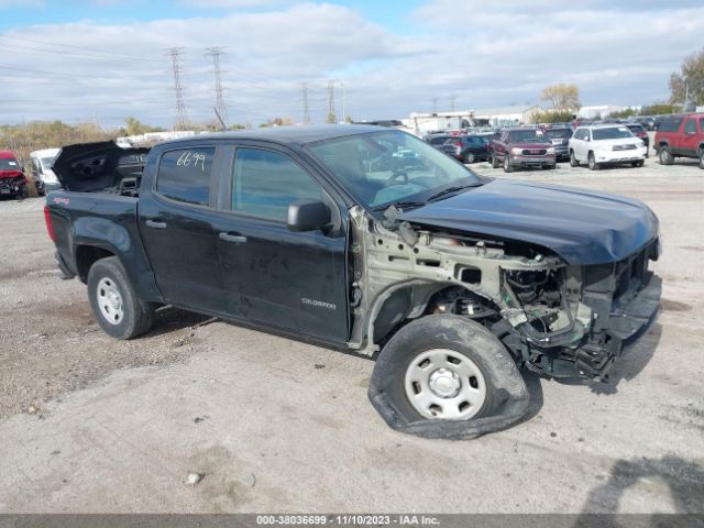
[[[322,199],[322,186],[289,155],[260,147],[237,147],[229,184],[229,210],[216,224],[228,312],[345,341],[345,231],[286,227],[288,205]]]

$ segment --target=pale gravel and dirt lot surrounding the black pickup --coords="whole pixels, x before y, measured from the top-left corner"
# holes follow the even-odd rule
[[[462,442],[388,429],[362,358],[173,309],[108,338],[58,278],[43,201],[1,201],[0,512],[704,513],[704,170],[510,177],[646,201],[662,309],[609,383],[529,377],[529,419]]]

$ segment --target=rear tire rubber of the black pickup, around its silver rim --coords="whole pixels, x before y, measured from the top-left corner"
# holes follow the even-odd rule
[[[110,322],[100,308],[99,285],[106,280],[116,288],[121,298],[121,320]],[[88,299],[92,314],[106,333],[118,339],[133,339],[147,332],[152,328],[152,309],[145,309],[140,304],[134,288],[117,256],[97,261],[88,272]],[[105,302],[105,300],[103,300]]]

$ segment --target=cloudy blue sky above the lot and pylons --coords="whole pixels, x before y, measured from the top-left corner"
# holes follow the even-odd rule
[[[215,118],[206,48],[221,46],[229,123],[400,119],[540,103],[573,82],[583,105],[668,99],[704,46],[701,0],[0,0],[0,122],[135,117],[170,127],[179,47],[187,117]]]

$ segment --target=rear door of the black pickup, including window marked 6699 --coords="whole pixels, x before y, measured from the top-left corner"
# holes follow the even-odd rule
[[[218,265],[215,177],[222,147],[197,143],[164,148],[156,177],[140,191],[140,233],[167,302],[224,311]]]

